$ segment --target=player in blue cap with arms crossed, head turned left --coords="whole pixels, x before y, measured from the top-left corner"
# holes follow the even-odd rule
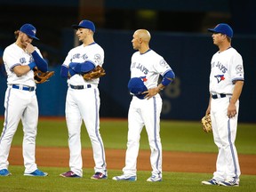
[[[60,174],[62,177],[83,177],[81,155],[82,120],[92,142],[95,174],[91,179],[107,179],[107,164],[104,145],[100,136],[100,79],[84,80],[83,75],[96,66],[103,65],[104,51],[93,39],[95,26],[91,20],[82,20],[76,29],[76,36],[83,44],[68,52],[61,67],[60,75],[68,78],[66,98],[66,121],[68,125],[68,146],[70,151],[70,171]]]

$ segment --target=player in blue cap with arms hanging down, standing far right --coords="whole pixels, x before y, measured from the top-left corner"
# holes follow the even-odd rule
[[[211,31],[213,44],[219,51],[212,56],[210,100],[206,114],[211,114],[213,139],[219,149],[216,171],[204,185],[239,186],[240,167],[235,140],[239,97],[244,84],[241,55],[231,46],[233,30],[220,23]]]

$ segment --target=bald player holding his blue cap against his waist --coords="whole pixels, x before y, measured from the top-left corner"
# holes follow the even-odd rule
[[[146,29],[134,32],[134,52],[131,63],[131,79],[128,88],[133,94],[128,112],[128,141],[124,174],[113,180],[137,180],[137,157],[140,148],[140,132],[145,126],[151,149],[152,175],[147,181],[162,180],[162,144],[160,139],[160,113],[162,99],[158,92],[175,78],[172,68],[162,56],[149,48],[150,34]],[[163,80],[157,85],[159,76]]]

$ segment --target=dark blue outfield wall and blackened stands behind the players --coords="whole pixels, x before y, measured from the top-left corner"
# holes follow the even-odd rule
[[[170,64],[177,78],[162,97],[164,119],[199,120],[208,105],[210,60],[218,49],[207,28],[228,23],[235,36],[232,45],[244,59],[245,84],[239,118],[256,122],[254,76],[256,51],[256,3],[252,0],[0,0],[0,55],[12,44],[13,32],[24,23],[37,29],[34,41],[49,60],[55,76],[38,84],[40,116],[64,116],[67,84],[60,65],[78,44],[72,24],[92,20],[95,41],[105,50],[107,76],[100,79],[100,116],[126,117],[131,96],[132,34],[138,28],[151,33],[150,47]],[[1,51],[2,50],[2,51]],[[0,75],[0,115],[4,115],[6,76]]]

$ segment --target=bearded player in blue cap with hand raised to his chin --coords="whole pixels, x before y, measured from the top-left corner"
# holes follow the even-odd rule
[[[36,37],[36,28],[24,24],[15,31],[16,42],[4,50],[4,67],[7,72],[7,89],[4,99],[4,129],[0,138],[0,175],[8,176],[8,156],[12,138],[20,119],[23,125],[23,158],[24,175],[46,176],[47,172],[37,169],[36,165],[36,132],[38,122],[38,104],[33,68],[48,70],[48,64],[41,52],[31,43]]]

